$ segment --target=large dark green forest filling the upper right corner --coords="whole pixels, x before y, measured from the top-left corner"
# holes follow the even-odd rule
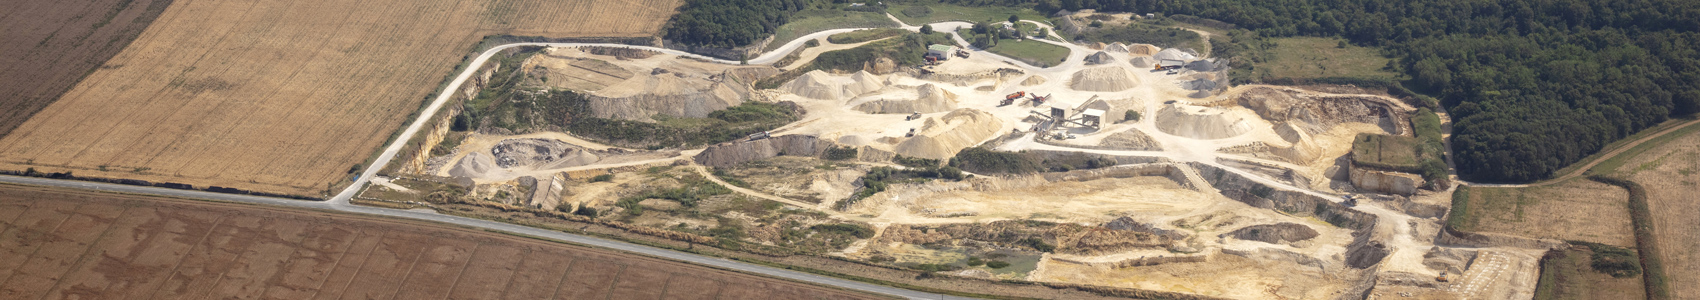
[[[1256,36],[1380,46],[1408,87],[1443,101],[1459,174],[1520,182],[1700,112],[1692,0],[944,0],[1226,20]]]

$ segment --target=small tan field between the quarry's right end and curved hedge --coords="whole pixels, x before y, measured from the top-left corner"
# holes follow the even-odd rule
[[[1540,188],[1470,188],[1469,232],[1634,247],[1629,191],[1588,179]]]

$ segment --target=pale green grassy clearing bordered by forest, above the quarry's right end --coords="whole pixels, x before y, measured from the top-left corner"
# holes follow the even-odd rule
[[[1333,38],[1278,38],[1270,39],[1275,48],[1268,49],[1268,60],[1258,63],[1253,78],[1323,78],[1323,77],[1358,77],[1358,78],[1397,78],[1397,73],[1382,70],[1387,58],[1375,48],[1346,44]]]

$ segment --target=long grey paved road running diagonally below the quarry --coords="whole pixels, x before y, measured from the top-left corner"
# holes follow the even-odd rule
[[[250,196],[250,194],[224,194],[224,193],[209,193],[209,191],[165,189],[165,188],[150,188],[150,186],[124,186],[124,184],[105,184],[105,182],[88,182],[88,181],[61,181],[61,179],[17,177],[17,176],[0,176],[0,182],[31,184],[31,186],[56,186],[56,188],[73,188],[73,189],[94,189],[94,191],[112,191],[112,193],[129,193],[129,194],[155,194],[155,196],[173,196],[173,198],[194,198],[194,199],[218,199],[218,201],[267,205],[267,206],[284,206],[284,208],[332,210],[332,211],[347,211],[347,213],[366,213],[366,215],[382,215],[382,216],[396,216],[396,218],[428,220],[428,222],[442,222],[442,223],[454,223],[454,225],[464,225],[464,227],[502,230],[502,232],[522,234],[522,235],[532,235],[532,237],[544,237],[544,239],[563,240],[563,242],[571,242],[571,244],[605,247],[605,249],[636,252],[636,254],[644,254],[644,256],[653,256],[653,257],[663,257],[663,259],[673,259],[673,261],[685,261],[685,262],[706,264],[706,266],[724,268],[724,269],[736,269],[736,271],[743,271],[743,273],[755,273],[755,274],[765,274],[765,276],[775,276],[775,278],[787,278],[787,280],[816,283],[816,285],[828,285],[828,286],[838,286],[838,288],[848,288],[848,290],[860,290],[860,291],[869,291],[869,293],[884,293],[884,295],[896,295],[896,297],[904,297],[904,298],[962,298],[962,297],[945,297],[945,295],[938,295],[938,293],[913,291],[913,290],[892,288],[892,286],[884,286],[884,285],[870,285],[870,283],[852,281],[852,280],[840,280],[840,278],[830,278],[830,276],[819,276],[819,274],[809,274],[809,273],[799,273],[799,271],[789,271],[789,269],[777,269],[777,268],[746,264],[746,262],[738,262],[738,261],[729,261],[729,259],[721,259],[721,257],[707,257],[707,256],[697,256],[697,254],[678,252],[678,251],[670,251],[670,249],[627,244],[627,242],[619,242],[619,240],[607,240],[607,239],[585,237],[585,235],[575,235],[575,234],[564,234],[564,232],[554,232],[554,230],[544,230],[544,228],[532,228],[532,227],[522,227],[522,225],[512,225],[512,223],[486,222],[486,220],[476,220],[476,218],[461,218],[461,216],[437,215],[437,213],[425,213],[425,211],[411,211],[411,210],[388,210],[388,208],[369,208],[369,206],[321,203],[321,201],[264,198],[264,196]]]

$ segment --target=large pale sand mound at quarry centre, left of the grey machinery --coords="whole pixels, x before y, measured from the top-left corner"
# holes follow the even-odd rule
[[[896,152],[904,157],[950,159],[959,150],[991,138],[1000,128],[1003,123],[991,112],[955,109],[940,118],[928,118],[913,138],[898,143]]]

